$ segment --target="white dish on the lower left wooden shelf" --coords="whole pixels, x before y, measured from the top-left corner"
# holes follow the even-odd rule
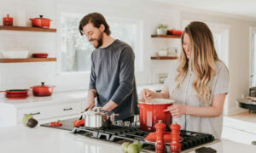
[[[26,59],[28,51],[2,51],[3,59]]]

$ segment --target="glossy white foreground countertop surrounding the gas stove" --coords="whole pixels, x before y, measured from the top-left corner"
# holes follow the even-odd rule
[[[28,128],[15,126],[0,130],[0,152],[4,153],[120,153],[121,145],[92,139],[66,130],[49,127]],[[256,146],[239,144],[226,139],[210,144],[218,153],[255,153]],[[143,152],[143,151],[142,151]],[[148,152],[148,151],[147,151]],[[195,151],[190,151],[195,152]]]

